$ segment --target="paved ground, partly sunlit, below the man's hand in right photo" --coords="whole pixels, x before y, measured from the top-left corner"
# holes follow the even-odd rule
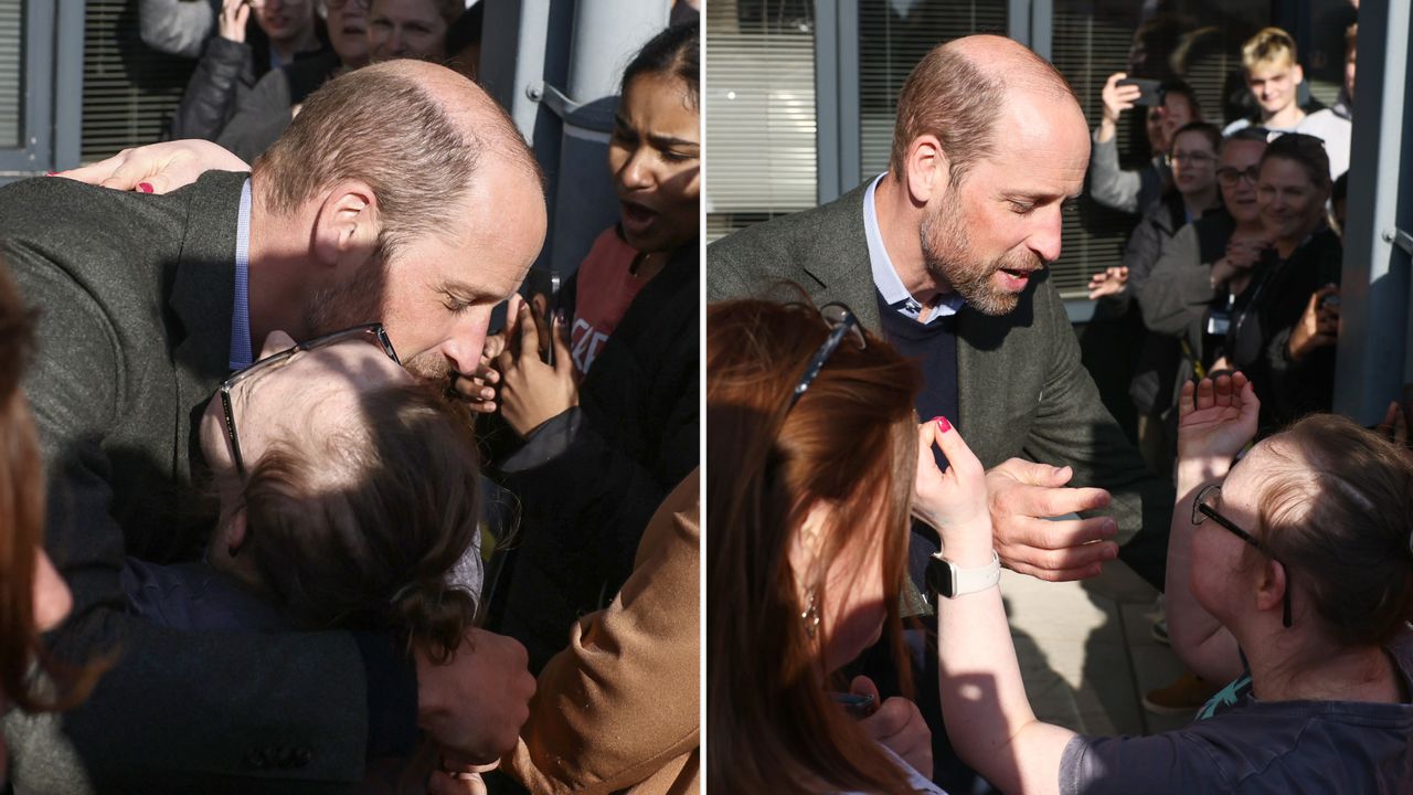
[[[1190,716],[1143,709],[1143,693],[1183,665],[1150,634],[1157,597],[1128,566],[1085,583],[1043,583],[1002,571],[1026,695],[1041,720],[1085,734],[1153,734]]]

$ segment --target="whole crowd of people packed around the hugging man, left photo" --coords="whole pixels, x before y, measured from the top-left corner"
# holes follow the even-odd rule
[[[551,313],[485,3],[160,6],[191,140],[0,190],[10,782],[694,791],[692,16]]]

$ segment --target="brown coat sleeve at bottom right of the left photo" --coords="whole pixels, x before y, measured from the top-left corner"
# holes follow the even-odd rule
[[[536,794],[698,792],[701,485],[653,515],[633,574],[540,673],[506,767]]]

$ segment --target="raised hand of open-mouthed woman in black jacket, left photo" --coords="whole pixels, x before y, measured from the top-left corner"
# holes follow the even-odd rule
[[[517,315],[517,332],[507,337],[512,344],[495,359],[500,371],[500,416],[520,436],[579,405],[564,321],[554,318],[552,330],[548,328],[541,307],[540,303],[531,307],[524,301],[512,306]],[[554,366],[540,358],[541,328],[554,345]]]

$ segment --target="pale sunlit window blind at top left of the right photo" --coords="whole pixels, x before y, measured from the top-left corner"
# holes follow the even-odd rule
[[[815,205],[814,3],[706,3],[706,240]]]

